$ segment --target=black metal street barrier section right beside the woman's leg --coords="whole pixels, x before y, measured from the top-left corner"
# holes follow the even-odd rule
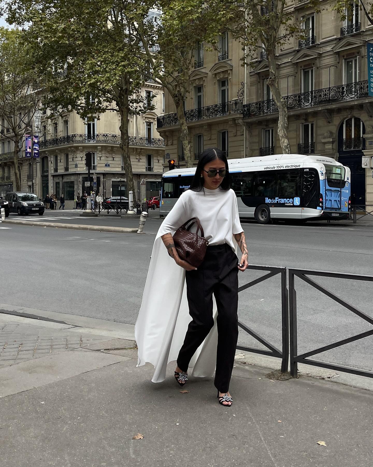
[[[262,277],[258,277],[253,281],[242,285],[239,287],[238,292],[242,292],[242,290],[246,290],[249,287],[253,287],[254,285],[261,283],[270,277],[276,276],[279,274],[281,276],[281,318],[282,318],[282,349],[275,347],[274,345],[270,344],[268,340],[264,337],[260,336],[256,333],[253,329],[249,328],[249,326],[244,325],[241,321],[238,321],[238,325],[246,331],[250,336],[254,337],[258,342],[260,342],[264,347],[267,347],[268,350],[258,349],[255,347],[246,347],[238,345],[236,348],[239,350],[244,350],[246,352],[253,352],[255,354],[262,354],[262,355],[270,355],[272,357],[277,357],[281,359],[281,371],[284,373],[288,371],[288,364],[289,364],[289,311],[288,311],[288,289],[286,286],[286,268],[275,268],[271,266],[256,266],[256,265],[249,265],[248,269],[251,270],[258,270],[258,271],[268,271]]]

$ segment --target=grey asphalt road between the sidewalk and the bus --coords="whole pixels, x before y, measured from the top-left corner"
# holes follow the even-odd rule
[[[124,219],[125,226],[134,220]],[[145,231],[156,231],[159,222],[149,219]],[[2,303],[135,323],[153,234],[6,226],[10,228],[0,228]],[[251,222],[243,226],[252,264],[373,275],[373,229],[368,226],[260,226]],[[240,283],[261,275],[257,271],[240,273]],[[323,278],[317,282],[372,315],[371,283]],[[240,320],[277,347],[281,345],[279,285],[276,276],[243,291],[239,306]],[[297,280],[296,288],[299,353],[371,329],[306,283]],[[239,342],[261,347],[243,331]],[[318,358],[372,370],[373,337]]]

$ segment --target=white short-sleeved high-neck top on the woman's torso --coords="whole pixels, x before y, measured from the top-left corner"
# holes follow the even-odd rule
[[[237,198],[233,190],[204,188],[201,191],[185,191],[167,214],[158,234],[175,232],[193,217],[200,219],[209,245],[227,243],[235,251],[233,235],[243,232],[243,229],[238,214]]]

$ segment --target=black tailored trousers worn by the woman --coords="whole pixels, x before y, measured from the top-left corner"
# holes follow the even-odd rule
[[[187,371],[195,351],[214,325],[213,294],[218,315],[218,347],[214,386],[228,392],[238,339],[238,259],[229,245],[207,247],[203,263],[196,271],[186,271],[189,314],[184,343],[177,359],[178,367]]]

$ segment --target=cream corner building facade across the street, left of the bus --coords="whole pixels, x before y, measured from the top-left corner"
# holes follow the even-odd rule
[[[137,199],[159,196],[161,177],[165,166],[165,143],[157,131],[157,117],[164,113],[163,87],[153,81],[145,83],[145,98],[152,97],[154,110],[144,115],[132,115],[128,130],[132,171],[137,189]],[[48,117],[48,119],[47,119]],[[57,198],[64,194],[66,207],[74,206],[78,193],[92,191],[96,175],[96,192],[104,198],[128,196],[124,162],[119,148],[120,115],[107,111],[94,119],[83,121],[75,112],[53,113],[42,111],[40,157],[30,160],[20,154],[21,190],[32,191],[44,199],[54,193]],[[12,143],[7,135],[1,135],[0,191],[4,194],[15,189],[11,161]],[[92,152],[90,187],[85,154]]]

